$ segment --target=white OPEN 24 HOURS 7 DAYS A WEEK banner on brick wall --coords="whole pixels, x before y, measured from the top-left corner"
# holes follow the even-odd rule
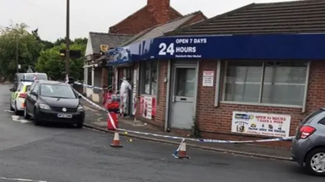
[[[287,137],[290,121],[290,115],[234,111],[232,132]]]

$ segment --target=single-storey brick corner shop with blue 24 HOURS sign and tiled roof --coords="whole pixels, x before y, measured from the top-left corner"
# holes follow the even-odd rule
[[[196,120],[205,138],[292,136],[325,104],[324,7],[316,0],[250,4],[129,44],[130,58],[112,64],[158,64],[156,85],[146,73],[152,68],[138,69],[136,115],[165,131],[186,132]],[[141,97],[148,80],[154,103]]]

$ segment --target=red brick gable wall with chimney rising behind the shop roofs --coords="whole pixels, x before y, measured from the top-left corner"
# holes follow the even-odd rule
[[[137,34],[142,30],[164,24],[181,16],[170,7],[169,0],[148,0],[147,6],[111,26],[109,32]]]

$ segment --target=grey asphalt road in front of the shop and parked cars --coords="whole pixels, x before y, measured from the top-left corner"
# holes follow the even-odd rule
[[[14,121],[9,85],[0,85],[0,182],[197,182],[324,181],[293,162],[188,149],[189,160],[172,157],[177,146],[121,138],[69,126],[35,126]]]

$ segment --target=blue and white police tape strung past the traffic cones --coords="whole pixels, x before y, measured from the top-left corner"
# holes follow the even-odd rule
[[[77,91],[76,91],[77,92]],[[292,141],[294,139],[294,136],[289,136],[289,137],[280,137],[280,138],[274,138],[274,139],[264,139],[264,140],[249,140],[249,141],[226,141],[226,140],[213,140],[213,139],[193,139],[193,138],[184,138],[184,137],[179,137],[179,136],[171,136],[171,135],[163,135],[163,134],[155,134],[155,133],[150,133],[150,132],[141,132],[141,131],[134,131],[134,130],[128,130],[128,129],[123,129],[123,128],[117,128],[115,126],[115,123],[112,119],[111,114],[109,111],[107,111],[105,108],[95,104],[94,102],[90,101],[86,97],[84,97],[82,94],[78,93],[79,96],[81,96],[85,101],[87,101],[89,104],[92,106],[102,110],[106,111],[108,114],[108,117],[110,118],[110,121],[112,123],[112,126],[114,129],[117,129],[119,131],[126,131],[129,133],[136,133],[136,134],[143,134],[143,135],[151,135],[151,136],[156,136],[156,137],[161,137],[161,138],[168,138],[168,139],[175,139],[175,140],[187,140],[187,141],[193,141],[193,142],[204,142],[204,143],[219,143],[219,144],[244,144],[244,143],[261,143],[261,142],[278,142],[278,141]]]

